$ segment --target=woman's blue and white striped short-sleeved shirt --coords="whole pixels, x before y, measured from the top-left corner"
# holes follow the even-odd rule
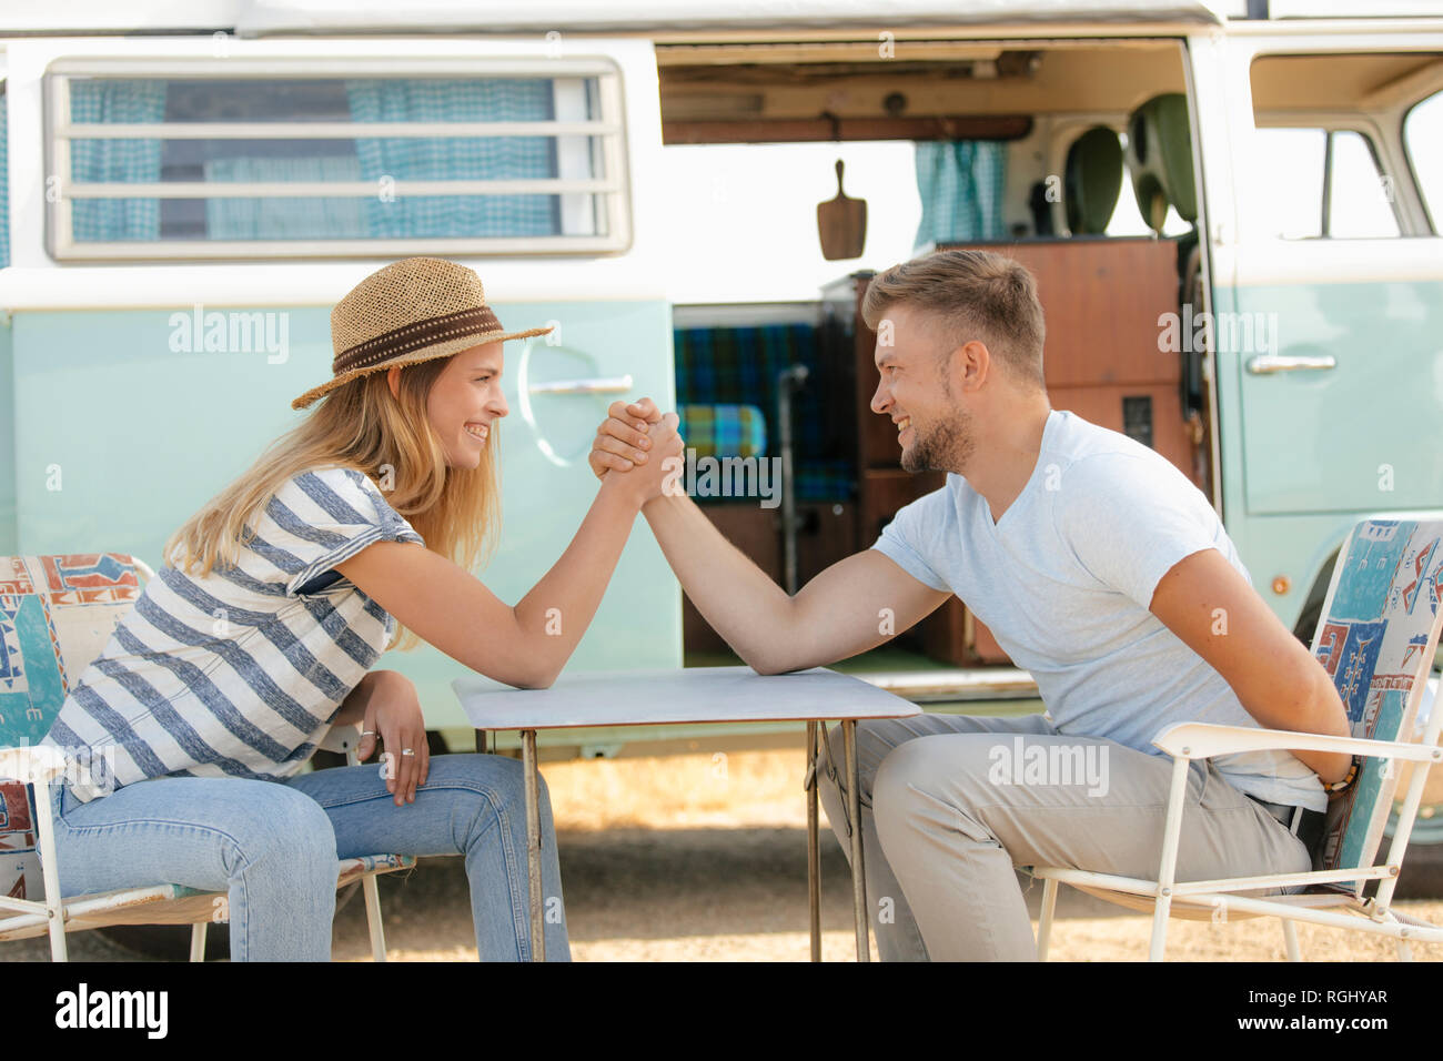
[[[91,761],[114,748],[115,787],[300,771],[395,631],[332,569],[374,541],[426,543],[371,479],[335,466],[289,479],[255,523],[234,567],[157,572],[45,743]],[[81,801],[105,791],[69,788]]]

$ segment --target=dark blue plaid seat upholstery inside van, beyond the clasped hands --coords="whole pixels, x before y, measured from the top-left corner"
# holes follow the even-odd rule
[[[797,497],[844,501],[856,491],[851,397],[833,365],[818,364],[817,331],[810,325],[758,328],[678,328],[677,404],[755,406],[766,417],[763,452],[779,456],[776,377],[794,364],[807,365],[807,385],[792,398]],[[843,416],[837,414],[844,409]],[[687,445],[693,445],[685,433]],[[700,450],[698,450],[700,452]]]

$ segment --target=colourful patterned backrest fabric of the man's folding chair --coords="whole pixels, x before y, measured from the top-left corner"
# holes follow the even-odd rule
[[[1439,638],[1440,538],[1443,523],[1372,520],[1358,525],[1338,556],[1313,655],[1332,676],[1356,738],[1418,736],[1418,704]],[[1390,765],[1364,759],[1356,781],[1329,804],[1317,869],[1374,865],[1397,788]]]

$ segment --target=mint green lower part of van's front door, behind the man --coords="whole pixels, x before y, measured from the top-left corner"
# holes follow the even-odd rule
[[[1280,355],[1338,361],[1254,375],[1266,351],[1218,349],[1225,524],[1291,629],[1358,521],[1443,511],[1443,447],[1424,427],[1443,417],[1443,281],[1228,287],[1215,305],[1276,313]]]

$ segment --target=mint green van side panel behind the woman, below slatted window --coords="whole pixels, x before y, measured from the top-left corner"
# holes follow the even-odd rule
[[[557,320],[564,338],[561,346],[547,346],[545,339],[506,344],[511,414],[498,435],[502,530],[481,577],[514,603],[560,557],[596,495],[584,455],[606,406],[616,397],[649,394],[671,407],[671,309],[659,300],[495,309],[515,329]],[[299,423],[304,413],[293,411],[290,401],[330,375],[329,307],[284,310],[284,358],[264,351],[173,351],[172,313],[25,312],[16,313],[10,331],[0,329],[6,342],[0,357],[13,359],[13,372],[0,375],[4,387],[13,381],[13,396],[0,394],[0,433],[13,414],[16,442],[14,533],[4,551],[102,549],[159,566],[170,533]],[[535,403],[528,424],[517,394],[528,342],[532,380],[586,370],[597,377],[631,374],[635,385],[628,396],[548,396]],[[567,463],[569,458],[574,459]],[[0,534],[7,497],[0,478]],[[387,652],[377,665],[416,681],[429,726],[465,726],[450,689],[465,671],[459,663],[423,645]],[[569,670],[680,665],[680,593],[638,520]]]

